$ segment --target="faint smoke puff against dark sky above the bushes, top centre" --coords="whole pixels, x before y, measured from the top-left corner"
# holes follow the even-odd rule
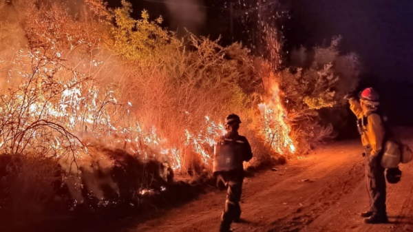
[[[187,28],[196,32],[204,24],[205,8],[200,0],[166,0],[165,6],[172,16],[174,28]]]

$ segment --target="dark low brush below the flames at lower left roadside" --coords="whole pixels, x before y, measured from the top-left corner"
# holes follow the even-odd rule
[[[154,196],[176,187],[173,171],[157,160],[143,162],[121,149],[90,149],[94,159],[83,160],[72,174],[53,158],[1,155],[2,218],[23,226],[69,211],[147,209],[159,201]]]

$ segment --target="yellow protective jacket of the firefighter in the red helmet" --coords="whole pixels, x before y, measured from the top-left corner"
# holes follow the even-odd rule
[[[350,109],[357,116],[357,119],[363,120],[363,118],[366,118],[363,125],[361,125],[361,143],[365,147],[371,147],[370,154],[372,156],[379,155],[381,149],[383,149],[382,146],[385,136],[385,128],[381,116],[379,116],[379,114],[371,114],[372,111],[363,112],[359,101],[354,98],[350,99]]]

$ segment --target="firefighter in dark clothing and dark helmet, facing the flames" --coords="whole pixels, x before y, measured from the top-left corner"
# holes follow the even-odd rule
[[[240,221],[240,198],[244,181],[242,163],[253,158],[248,140],[238,134],[240,123],[240,117],[236,114],[226,116],[224,124],[226,134],[220,137],[215,147],[214,174],[217,176],[218,184],[223,182],[226,187],[226,201],[220,231],[230,231],[231,223]],[[217,147],[222,147],[222,149],[217,151]]]

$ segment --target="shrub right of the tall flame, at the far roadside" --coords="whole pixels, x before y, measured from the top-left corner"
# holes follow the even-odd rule
[[[328,118],[334,118],[337,112],[332,110],[330,115],[327,112],[320,118],[320,109],[335,107],[342,112],[343,96],[354,91],[359,83],[357,55],[340,54],[340,40],[341,37],[335,37],[330,45],[313,50],[293,50],[293,66],[277,72],[298,153],[306,153],[331,138],[336,125],[323,120],[332,122]]]

